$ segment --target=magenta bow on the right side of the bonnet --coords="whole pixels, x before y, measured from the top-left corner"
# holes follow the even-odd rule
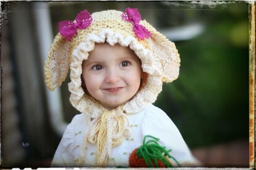
[[[122,13],[121,16],[125,21],[129,21],[134,25],[133,31],[138,38],[144,40],[145,38],[148,39],[151,37],[150,31],[148,31],[145,26],[139,24],[142,17],[140,16],[138,9],[131,9],[128,7],[126,12]]]

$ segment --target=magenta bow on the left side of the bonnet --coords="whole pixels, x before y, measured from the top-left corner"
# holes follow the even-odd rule
[[[92,23],[92,16],[87,10],[79,12],[75,19],[76,22],[65,20],[58,23],[58,30],[66,41],[71,41],[78,29],[86,29]]]

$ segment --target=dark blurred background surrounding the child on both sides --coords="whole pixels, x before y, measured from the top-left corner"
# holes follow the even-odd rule
[[[7,120],[14,119],[4,109],[1,112],[2,167],[49,167],[62,137],[52,123],[53,114],[46,95],[49,91],[44,85],[41,58],[45,56],[39,52],[42,35],[36,31],[37,14],[44,9],[49,11],[47,24],[54,38],[58,22],[73,20],[81,10],[87,9],[90,13],[107,9],[124,11],[126,7],[138,8],[142,18],[175,42],[180,53],[180,75],[174,82],[164,83],[154,105],[169,115],[194,156],[207,167],[249,166],[249,4],[232,1],[208,4],[203,1],[53,1],[1,3],[2,77],[5,80],[1,104],[3,108],[14,106],[7,102],[10,95],[4,93],[10,87],[5,82],[12,75],[12,99],[17,100],[17,120],[12,123],[20,134],[18,140],[9,137],[12,133]],[[43,26],[42,29],[47,30]],[[7,68],[7,61],[12,71]],[[26,65],[28,61],[36,65]],[[31,80],[23,77],[31,77]],[[69,102],[68,82],[69,77],[60,88],[61,114],[66,123],[79,114]],[[31,96],[40,99],[39,105],[34,104],[36,100]],[[9,141],[17,143],[9,144]],[[19,150],[10,154],[14,147]]]

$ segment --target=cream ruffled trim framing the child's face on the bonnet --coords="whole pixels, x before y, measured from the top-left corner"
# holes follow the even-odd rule
[[[143,47],[134,37],[123,37],[122,34],[114,33],[111,29],[104,29],[100,34],[89,34],[86,41],[73,50],[70,64],[71,82],[68,89],[71,92],[71,104],[82,113],[89,114],[91,118],[102,114],[105,108],[92,97],[86,95],[81,87],[82,61],[87,60],[90,51],[94,49],[95,42],[108,42],[110,45],[119,43],[124,47],[130,47],[142,61],[142,69],[148,73],[148,80],[145,87],[138,91],[130,101],[124,104],[123,109],[127,114],[140,112],[146,104],[156,101],[162,90],[162,77],[156,68],[156,61],[150,50]]]

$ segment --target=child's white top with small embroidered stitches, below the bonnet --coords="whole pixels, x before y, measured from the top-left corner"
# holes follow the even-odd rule
[[[140,147],[145,135],[158,137],[158,143],[166,149],[172,149],[170,155],[182,166],[196,166],[198,161],[191,155],[190,149],[172,120],[158,107],[148,104],[141,112],[127,115],[131,136],[125,138],[121,145],[113,147],[108,159],[108,167],[129,167],[129,156]],[[74,116],[66,127],[62,140],[52,161],[53,167],[77,167],[80,154],[85,154],[83,167],[95,167],[96,144],[89,144],[86,132],[90,118],[86,114]],[[174,162],[175,164],[175,162]]]

